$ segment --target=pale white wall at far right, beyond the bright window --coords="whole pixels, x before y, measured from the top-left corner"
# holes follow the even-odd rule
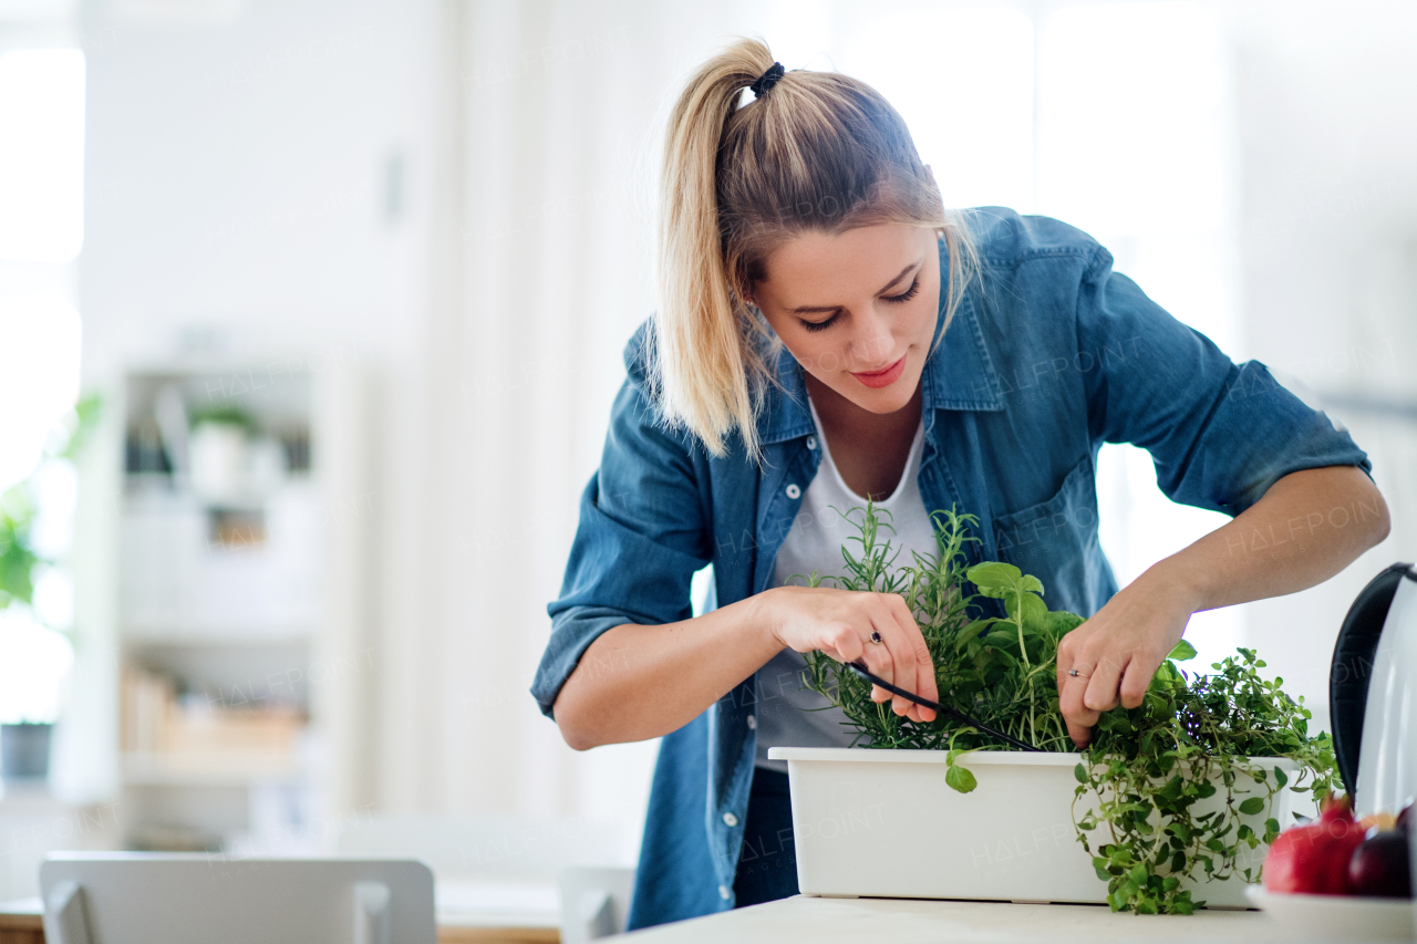
[[[1365,393],[1417,414],[1417,6],[1237,4],[1246,357],[1316,404]],[[1383,567],[1417,558],[1417,424],[1342,405],[1393,534],[1333,580],[1246,607],[1246,638],[1285,689],[1326,709],[1343,614]],[[1329,513],[1332,509],[1318,509]],[[1335,520],[1342,520],[1339,515]]]

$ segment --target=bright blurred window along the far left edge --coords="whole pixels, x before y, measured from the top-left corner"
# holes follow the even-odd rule
[[[57,27],[0,24],[0,48]],[[58,452],[79,390],[74,259],[82,241],[84,54],[9,48],[0,52],[0,554],[16,567],[0,584],[6,724],[57,720],[72,661],[62,561],[77,478]]]

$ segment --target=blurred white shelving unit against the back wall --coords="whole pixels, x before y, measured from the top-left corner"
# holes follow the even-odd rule
[[[116,590],[122,842],[269,843],[366,802],[373,401],[359,363],[316,353],[130,364],[112,390],[85,475],[113,496],[89,583]],[[194,435],[222,411],[244,444]]]

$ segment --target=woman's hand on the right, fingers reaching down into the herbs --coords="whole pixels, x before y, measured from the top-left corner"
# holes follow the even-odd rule
[[[1195,597],[1173,581],[1142,574],[1058,644],[1058,704],[1068,737],[1093,740],[1102,712],[1136,707],[1162,659],[1196,611]],[[1070,675],[1070,670],[1077,675]]]

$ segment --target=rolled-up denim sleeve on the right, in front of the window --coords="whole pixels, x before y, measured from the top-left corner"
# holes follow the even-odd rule
[[[1168,315],[1097,248],[1077,306],[1094,441],[1151,452],[1156,483],[1175,502],[1240,515],[1291,472],[1356,465],[1367,455],[1260,361],[1233,363],[1200,332]]]

